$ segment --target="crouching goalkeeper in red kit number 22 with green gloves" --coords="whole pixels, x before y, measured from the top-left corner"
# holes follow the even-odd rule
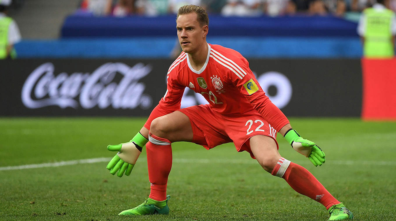
[[[108,146],[118,153],[107,168],[119,177],[124,172],[129,175],[145,144],[147,149],[150,195],[141,205],[120,215],[169,213],[166,188],[172,166],[171,143],[187,141],[206,149],[233,142],[238,152],[249,152],[265,171],[323,204],[329,220],[352,219],[344,204],[307,169],[281,157],[277,132],[314,166],[325,162],[323,151],[314,142],[301,138],[268,99],[247,60],[237,51],[206,42],[208,23],[208,14],[201,7],[179,8],[176,28],[183,52],[169,67],[164,98],[130,142]],[[202,94],[209,104],[180,109],[185,87]]]

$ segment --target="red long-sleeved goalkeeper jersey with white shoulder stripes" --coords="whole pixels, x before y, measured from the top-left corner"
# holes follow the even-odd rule
[[[238,51],[221,45],[209,45],[201,70],[192,68],[182,52],[168,70],[167,90],[154,108],[145,127],[156,117],[180,109],[185,87],[202,94],[212,110],[235,115],[257,110],[277,131],[289,123],[286,116],[269,100],[249,68],[249,62]]]

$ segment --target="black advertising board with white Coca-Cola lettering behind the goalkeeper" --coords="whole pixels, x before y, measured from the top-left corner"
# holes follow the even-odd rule
[[[166,91],[173,62],[105,59],[0,61],[2,116],[148,116]],[[359,60],[249,59],[287,116],[359,116]],[[188,88],[181,106],[205,104]]]

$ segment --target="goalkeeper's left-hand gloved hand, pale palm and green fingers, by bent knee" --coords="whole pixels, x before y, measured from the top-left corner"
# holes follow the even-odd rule
[[[135,165],[137,158],[142,152],[142,147],[136,145],[132,140],[128,143],[108,145],[109,151],[118,151],[118,153],[110,160],[107,164],[107,169],[110,170],[110,174],[116,174],[119,177],[122,175],[131,175],[133,166]]]

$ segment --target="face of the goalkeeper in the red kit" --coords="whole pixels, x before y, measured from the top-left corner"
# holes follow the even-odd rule
[[[201,27],[197,19],[197,14],[194,12],[179,15],[176,20],[176,28],[181,49],[185,53],[194,53],[206,42],[208,25]]]

